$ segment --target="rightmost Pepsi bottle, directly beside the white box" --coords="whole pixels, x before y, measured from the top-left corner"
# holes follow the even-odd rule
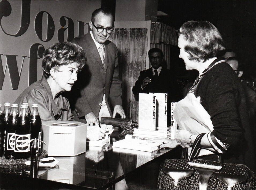
[[[38,113],[38,104],[32,104],[32,112],[30,116],[31,139],[39,139],[42,137],[42,121]],[[41,152],[41,142],[38,141],[39,155]]]

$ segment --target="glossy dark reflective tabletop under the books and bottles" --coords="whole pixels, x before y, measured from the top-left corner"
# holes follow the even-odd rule
[[[75,157],[54,157],[59,161],[58,164],[53,168],[40,168],[38,179],[30,178],[27,172],[1,173],[0,188],[106,189],[136,173],[139,168],[169,158],[172,154],[171,149],[160,149],[153,153],[127,149],[116,151],[112,149],[112,143],[119,140],[120,132],[122,130],[114,130],[109,146],[87,146],[86,153]]]

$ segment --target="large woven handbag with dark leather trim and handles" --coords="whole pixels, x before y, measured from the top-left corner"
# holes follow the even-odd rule
[[[256,176],[242,164],[222,163],[195,159],[199,144],[205,133],[199,134],[188,159],[166,159],[160,166],[158,189],[167,190],[256,190]]]

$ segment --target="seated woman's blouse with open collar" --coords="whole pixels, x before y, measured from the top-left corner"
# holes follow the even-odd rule
[[[42,122],[73,120],[68,99],[60,94],[56,104],[53,100],[50,86],[44,76],[40,81],[36,81],[26,88],[15,101],[19,106],[23,102],[28,102],[30,112],[32,111],[32,104],[38,104],[38,112]]]

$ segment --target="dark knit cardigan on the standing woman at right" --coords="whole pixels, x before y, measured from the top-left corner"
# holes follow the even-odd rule
[[[220,58],[214,60],[218,61]],[[245,164],[255,171],[255,155],[244,88],[233,69],[218,63],[204,74],[195,92],[209,113],[212,134],[224,145],[224,162]],[[211,159],[213,156],[204,156]],[[215,155],[216,157],[216,155]]]

